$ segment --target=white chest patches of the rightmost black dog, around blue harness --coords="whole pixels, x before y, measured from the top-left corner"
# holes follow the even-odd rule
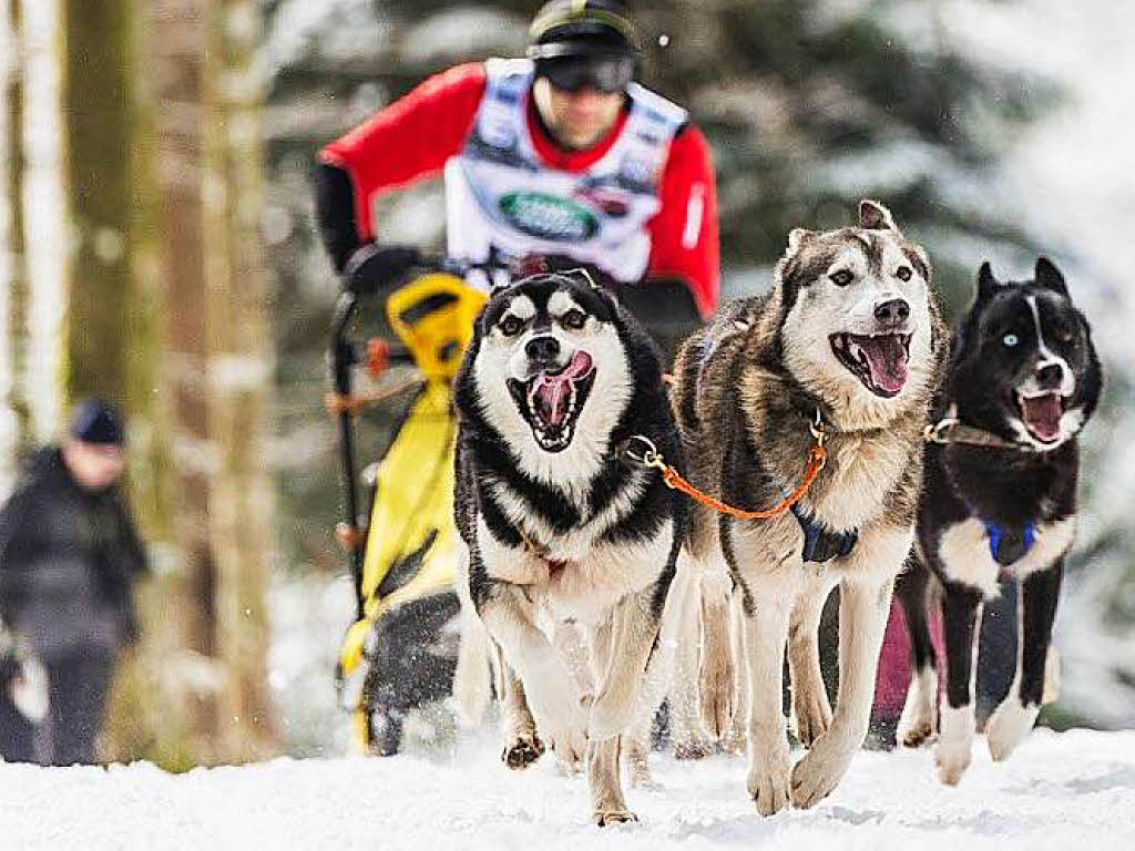
[[[1033,546],[1006,570],[1023,580],[1050,567],[1071,546],[1075,532],[1074,517],[1039,523]],[[1001,565],[993,558],[990,536],[981,520],[970,517],[948,526],[939,538],[938,555],[952,581],[978,589],[986,599],[997,596]]]

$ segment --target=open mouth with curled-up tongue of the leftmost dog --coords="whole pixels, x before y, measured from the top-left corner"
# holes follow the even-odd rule
[[[571,444],[594,384],[591,355],[577,351],[558,372],[537,372],[527,381],[508,379],[508,391],[540,448],[561,452]]]

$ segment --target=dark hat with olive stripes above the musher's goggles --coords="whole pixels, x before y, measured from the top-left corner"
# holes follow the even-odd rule
[[[634,24],[617,0],[550,0],[528,31],[530,59],[578,56],[632,57]]]

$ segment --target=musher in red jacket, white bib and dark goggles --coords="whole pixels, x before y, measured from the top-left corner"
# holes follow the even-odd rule
[[[663,301],[676,286],[709,317],[709,150],[686,110],[633,82],[625,7],[552,0],[529,41],[527,58],[431,77],[320,152],[317,212],[336,270],[385,284],[414,266],[417,250],[376,244],[372,201],[444,172],[451,258],[566,256]]]

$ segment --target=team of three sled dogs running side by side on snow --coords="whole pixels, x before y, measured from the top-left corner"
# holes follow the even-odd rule
[[[939,776],[957,783],[981,608],[1004,573],[1020,583],[1018,666],[986,732],[1007,757],[1053,684],[1076,436],[1101,384],[1057,268],[1001,283],[983,266],[951,340],[926,252],[863,201],[854,227],[792,230],[771,292],[690,337],[669,387],[667,366],[581,271],[498,289],[477,322],[455,515],[465,640],[482,631],[497,662],[505,762],[550,748],[586,768],[597,824],[632,820],[621,765],[648,777],[669,698],[679,743],[697,726],[748,753],[759,812],[810,807],[866,736],[898,579],[913,647],[899,738],[936,734]],[[817,630],[835,588],[833,709]]]

